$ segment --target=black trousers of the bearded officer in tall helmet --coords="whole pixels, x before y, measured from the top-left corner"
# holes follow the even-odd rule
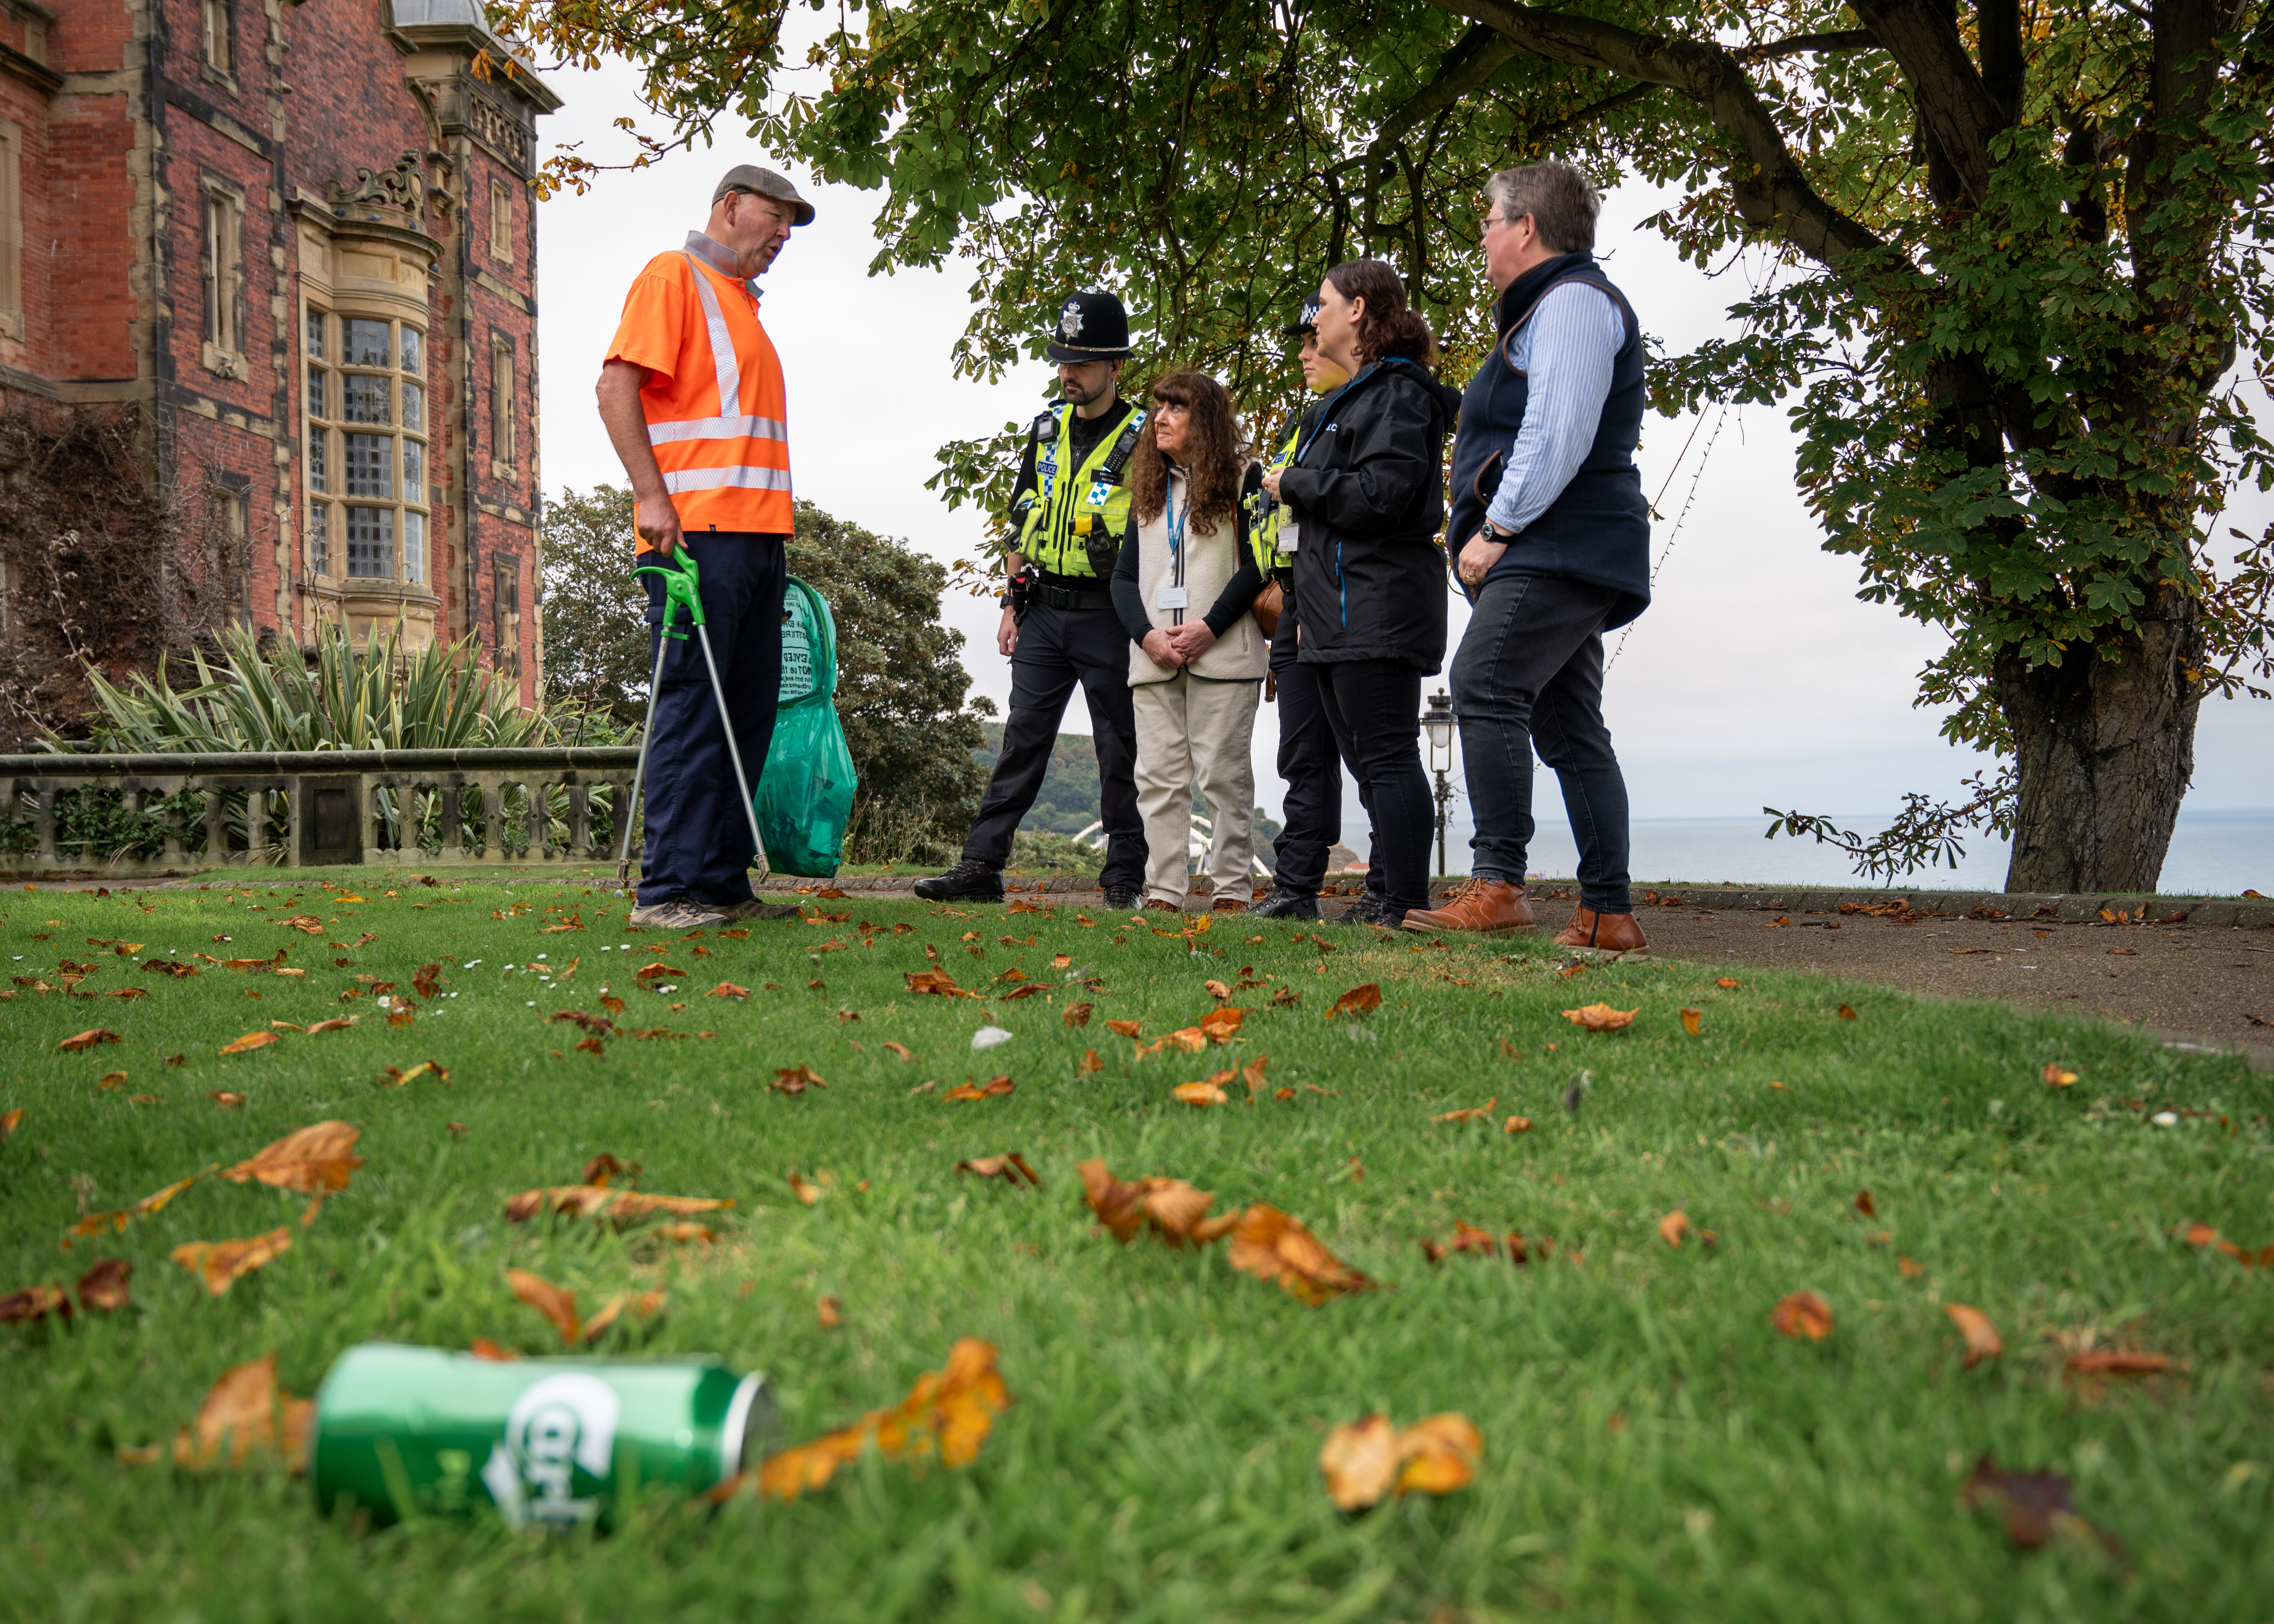
[[[1010,714],[987,798],[964,835],[964,857],[1001,869],[1010,839],[1035,805],[1057,748],[1057,723],[1076,682],[1089,701],[1098,746],[1098,817],[1105,821],[1101,889],[1144,889],[1144,819],[1137,817],[1137,707],[1130,701],[1130,635],[1112,610],[1037,603],[1010,657]]]

